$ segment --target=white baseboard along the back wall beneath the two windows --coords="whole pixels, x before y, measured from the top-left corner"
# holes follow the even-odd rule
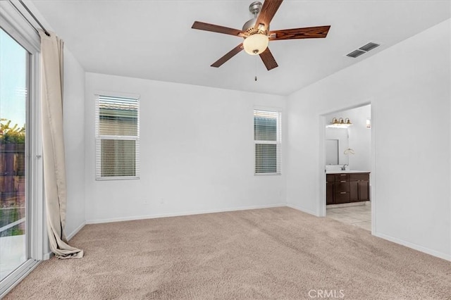
[[[182,213],[161,213],[158,215],[137,215],[137,216],[133,216],[133,217],[87,220],[86,224],[111,223],[111,222],[166,218],[166,217],[179,217],[182,215],[201,215],[203,213],[223,213],[223,212],[227,212],[227,211],[247,211],[249,209],[284,207],[284,206],[287,206],[287,205],[285,203],[280,203],[280,204],[268,204],[268,205],[257,205],[257,206],[243,206],[243,207],[226,208],[226,209],[211,209],[211,210],[206,210],[206,211],[186,211],[186,212],[182,212]]]

